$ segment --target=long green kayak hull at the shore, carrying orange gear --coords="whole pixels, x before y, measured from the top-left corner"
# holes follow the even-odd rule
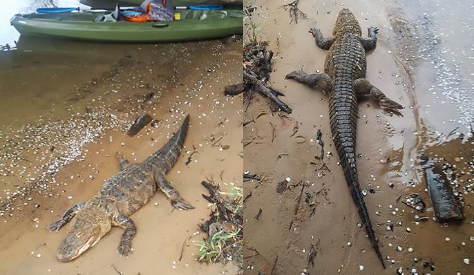
[[[243,9],[176,10],[175,21],[95,22],[102,12],[15,15],[12,26],[25,36],[113,42],[189,41],[243,34]]]

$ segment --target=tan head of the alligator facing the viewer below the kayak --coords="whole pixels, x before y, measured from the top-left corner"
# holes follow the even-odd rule
[[[69,228],[68,236],[66,236],[59,246],[57,252],[58,260],[67,262],[68,260],[77,258],[87,249],[93,247],[100,238],[110,231],[112,226],[111,220],[102,213],[97,213],[97,210],[99,209],[84,209],[79,211],[73,224]]]

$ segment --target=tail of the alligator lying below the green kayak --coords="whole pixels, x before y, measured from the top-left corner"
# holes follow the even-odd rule
[[[184,145],[184,140],[189,128],[189,115],[184,118],[180,129],[168,140],[164,146],[149,158],[147,158],[144,163],[150,164],[152,167],[160,167],[167,173],[176,161],[180,157],[182,147]]]

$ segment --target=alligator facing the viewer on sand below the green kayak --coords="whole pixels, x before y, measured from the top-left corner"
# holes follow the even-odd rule
[[[180,156],[188,128],[189,115],[168,142],[141,163],[130,164],[122,154],[117,153],[121,171],[108,179],[97,195],[69,207],[61,218],[47,227],[50,232],[58,231],[75,218],[59,246],[58,260],[66,262],[77,258],[93,247],[112,226],[124,229],[117,252],[121,256],[129,256],[132,253],[131,239],[136,232],[129,216],[143,207],[158,188],[171,200],[174,208],[194,208],[165,178]]]

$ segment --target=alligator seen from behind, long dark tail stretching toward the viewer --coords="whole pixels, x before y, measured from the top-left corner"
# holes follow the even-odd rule
[[[316,28],[310,30],[316,45],[328,50],[324,73],[307,74],[302,70],[296,70],[286,75],[285,79],[294,79],[310,87],[320,87],[324,93],[329,94],[332,138],[339,154],[345,181],[370,243],[385,268],[361,193],[355,154],[358,96],[373,97],[382,110],[388,113],[401,115],[399,110],[404,108],[386,97],[379,88],[364,78],[367,66],[366,51],[375,48],[378,31],[377,27],[372,26],[368,28],[368,37],[362,37],[361,27],[352,12],[346,8],[341,10],[336,26],[332,30],[332,37],[323,37],[321,30]]]

